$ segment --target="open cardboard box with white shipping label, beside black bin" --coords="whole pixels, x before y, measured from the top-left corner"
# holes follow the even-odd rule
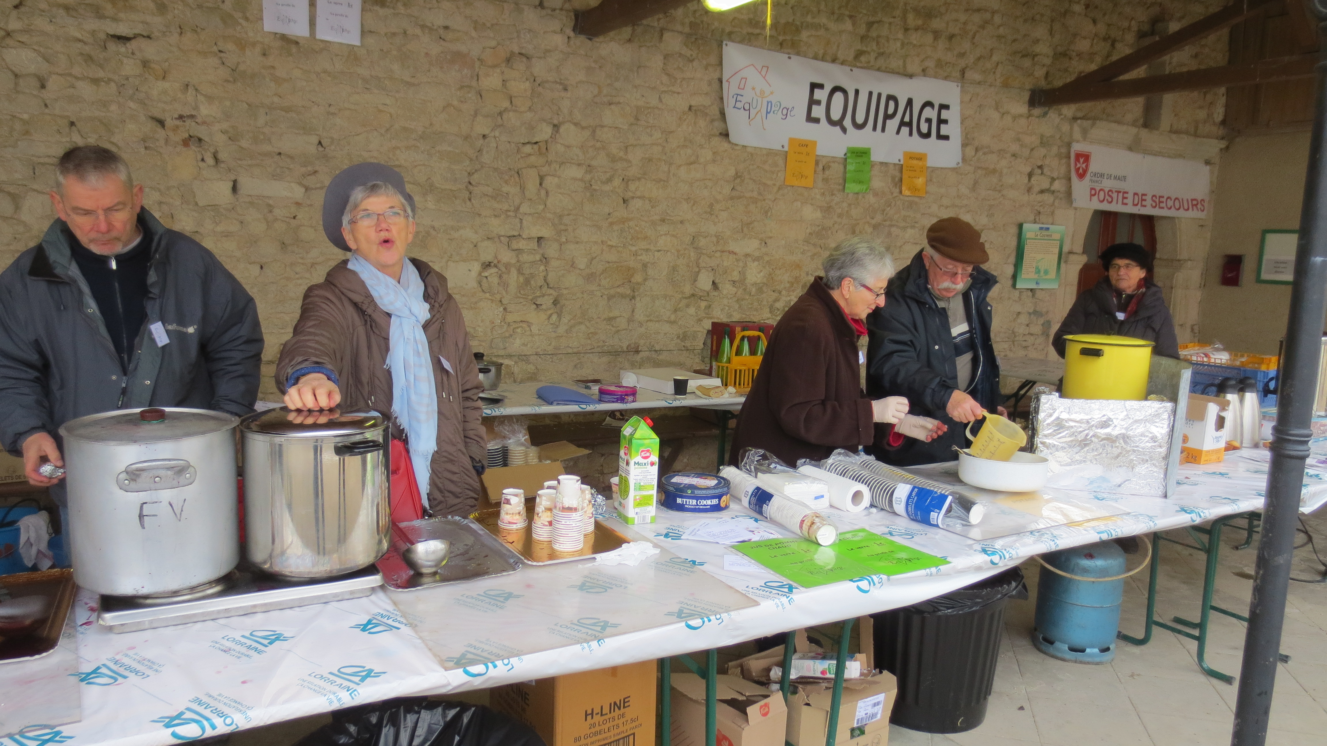
[[[824,746],[829,730],[829,700],[833,682],[798,684],[798,692],[788,696],[788,733],[792,746]],[[894,676],[881,672],[871,678],[843,682],[839,705],[839,734],[841,746],[886,746],[889,743],[889,713],[894,708],[898,686]]]

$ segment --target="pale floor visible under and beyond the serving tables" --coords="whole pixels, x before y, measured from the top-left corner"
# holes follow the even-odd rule
[[[1327,558],[1327,511],[1306,524]],[[1172,532],[1182,538],[1182,531]],[[1230,551],[1242,534],[1223,536],[1216,603],[1246,612],[1253,588],[1254,547]],[[1296,543],[1303,543],[1303,534]],[[1193,619],[1202,588],[1202,556],[1174,544],[1161,548],[1157,616]],[[1131,567],[1141,559],[1129,558]],[[1011,601],[1006,619],[986,721],[975,730],[932,735],[890,726],[890,746],[1225,746],[1235,704],[1235,686],[1208,677],[1194,661],[1197,644],[1156,629],[1139,648],[1121,642],[1115,661],[1091,666],[1050,658],[1030,642],[1038,564],[1023,571],[1032,600]],[[1322,576],[1308,547],[1296,551],[1292,575]],[[1247,577],[1246,577],[1247,576]],[[1147,603],[1147,571],[1125,581],[1121,627],[1140,636]],[[1237,673],[1245,625],[1213,615],[1208,661]],[[1291,583],[1282,652],[1291,656],[1277,673],[1270,746],[1327,743],[1327,584]],[[483,692],[467,697],[483,701]],[[291,746],[328,722],[318,715],[240,731],[210,746]]]

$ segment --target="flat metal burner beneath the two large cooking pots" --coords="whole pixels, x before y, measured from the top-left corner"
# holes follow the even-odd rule
[[[169,596],[102,596],[98,621],[111,632],[206,621],[368,596],[382,584],[376,565],[337,577],[277,577],[252,567]]]

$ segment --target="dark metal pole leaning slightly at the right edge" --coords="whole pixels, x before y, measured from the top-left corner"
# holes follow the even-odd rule
[[[1327,38],[1327,0],[1312,0],[1318,38]],[[1327,42],[1319,41],[1323,54]],[[1294,556],[1299,494],[1308,458],[1310,421],[1316,398],[1322,356],[1322,323],[1327,311],[1327,169],[1322,166],[1327,130],[1327,60],[1316,68],[1314,131],[1304,177],[1304,202],[1299,215],[1299,246],[1295,251],[1295,284],[1290,293],[1285,357],[1273,429],[1271,467],[1267,477],[1267,508],[1249,603],[1243,665],[1231,746],[1263,746],[1271,714],[1271,693],[1281,652],[1281,628],[1286,616],[1290,561]]]

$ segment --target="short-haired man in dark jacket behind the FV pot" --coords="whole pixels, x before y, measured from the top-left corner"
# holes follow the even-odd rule
[[[28,482],[64,463],[58,429],[114,409],[253,411],[263,329],[253,299],[202,244],[142,208],[115,153],[56,165],[58,219],[0,273],[0,445]]]

